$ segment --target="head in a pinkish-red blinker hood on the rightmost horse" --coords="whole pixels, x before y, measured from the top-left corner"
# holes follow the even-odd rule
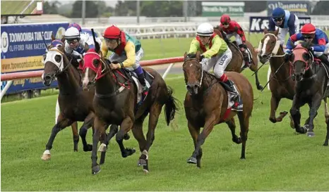
[[[294,66],[294,76],[297,81],[301,80],[306,70],[309,70],[313,63],[313,56],[309,53],[306,46],[298,44],[292,51],[292,57],[289,58]]]

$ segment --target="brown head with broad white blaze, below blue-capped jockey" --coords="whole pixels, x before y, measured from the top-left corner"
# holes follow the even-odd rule
[[[279,29],[274,32],[270,32],[267,28],[265,28],[265,36],[261,42],[259,42],[258,46],[258,57],[261,60],[261,63],[266,63],[272,55],[277,54],[277,51],[280,48],[280,41],[277,40],[278,33]]]

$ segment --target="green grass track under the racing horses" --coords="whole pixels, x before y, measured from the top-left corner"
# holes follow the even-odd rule
[[[268,66],[261,69],[265,84]],[[121,158],[115,141],[109,145],[100,174],[91,174],[90,153],[73,152],[71,128],[59,132],[52,160],[43,162],[49,134],[54,126],[56,96],[45,96],[1,104],[1,189],[2,191],[328,191],[329,148],[325,138],[323,106],[315,120],[316,137],[294,134],[289,117],[273,124],[268,120],[270,91],[256,90],[251,71],[244,75],[253,84],[253,115],[246,145],[246,160],[240,160],[241,145],[232,142],[226,124],[211,132],[203,145],[203,167],[186,163],[193,142],[186,127],[184,109],[167,127],[164,114],[150,149],[150,173],[144,175],[136,163],[139,153]],[[174,96],[184,100],[184,79],[167,84]],[[277,111],[289,110],[291,101],[282,100]],[[301,108],[302,120],[308,108]],[[144,130],[148,121],[145,120]],[[237,124],[239,122],[237,121]],[[79,126],[81,123],[79,123]],[[173,129],[177,125],[177,129]],[[239,132],[239,129],[237,129]],[[88,132],[91,142],[91,132]],[[131,134],[125,145],[138,148]],[[100,154],[98,154],[100,155]]]

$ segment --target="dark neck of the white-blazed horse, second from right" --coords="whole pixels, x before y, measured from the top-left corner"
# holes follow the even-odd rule
[[[282,48],[277,51],[277,56],[282,56],[282,57],[273,57],[270,58],[270,68],[272,72],[274,73],[277,71],[278,68],[282,65],[282,63],[285,62],[285,59],[283,57],[285,53],[283,52]],[[281,66],[280,70],[277,71],[277,74],[275,75],[278,79],[286,79],[290,74],[289,74],[290,66],[288,63],[285,63]]]

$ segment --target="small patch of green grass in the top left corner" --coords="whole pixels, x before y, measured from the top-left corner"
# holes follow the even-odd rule
[[[1,15],[20,14],[31,1],[1,1]],[[37,2],[33,2],[23,14],[30,14],[37,7]]]

